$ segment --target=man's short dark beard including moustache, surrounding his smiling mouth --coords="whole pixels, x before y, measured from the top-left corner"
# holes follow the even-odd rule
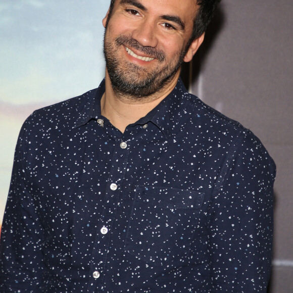
[[[130,99],[142,100],[162,90],[180,69],[186,48],[182,48],[174,58],[168,60],[166,54],[157,48],[142,46],[130,36],[118,36],[112,40],[107,31],[106,28],[104,56],[110,81],[117,96],[124,95]],[[123,46],[156,58],[158,66],[148,70],[131,62],[121,61],[117,52]]]

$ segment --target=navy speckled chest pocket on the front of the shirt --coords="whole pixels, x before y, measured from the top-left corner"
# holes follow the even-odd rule
[[[188,255],[204,193],[137,186],[124,249],[154,265]]]

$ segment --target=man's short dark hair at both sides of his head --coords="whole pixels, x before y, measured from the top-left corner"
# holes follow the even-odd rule
[[[112,14],[114,3],[116,0],[111,0],[109,16]],[[211,22],[217,5],[221,0],[194,0],[200,6],[197,15],[193,20],[193,31],[189,42],[200,37],[207,29],[208,24]],[[109,19],[108,19],[109,20]]]

